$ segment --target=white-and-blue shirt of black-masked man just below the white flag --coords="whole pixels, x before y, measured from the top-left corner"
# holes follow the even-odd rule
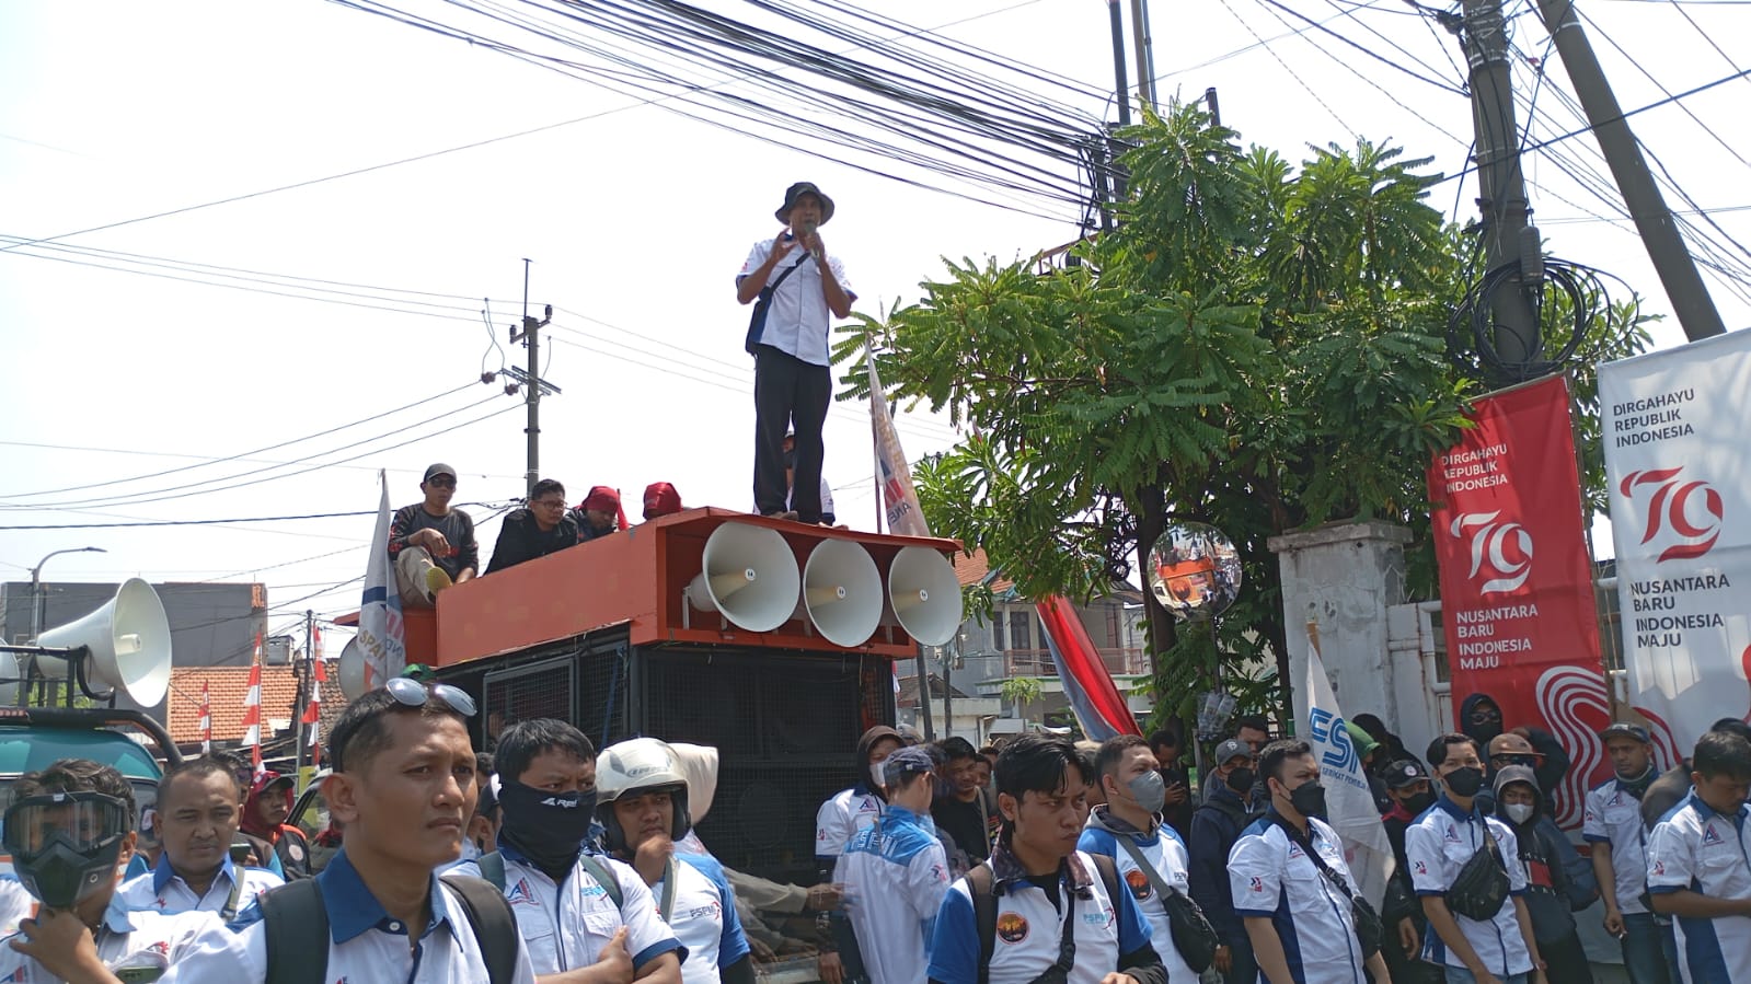
[[[1282,825],[1271,821],[1273,816],[1276,814],[1254,821],[1227,853],[1234,914],[1241,919],[1254,916],[1271,921],[1296,980],[1368,984],[1350,900],[1320,874]],[[1308,818],[1308,842],[1326,867],[1343,877],[1345,884],[1355,886],[1355,877],[1343,861],[1338,832],[1322,819]]]

